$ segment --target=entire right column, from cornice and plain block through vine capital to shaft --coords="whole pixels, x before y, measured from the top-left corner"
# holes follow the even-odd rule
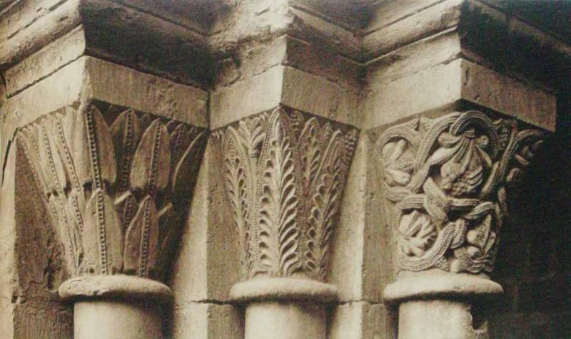
[[[502,224],[571,56],[510,6],[389,1],[363,36],[368,212],[390,237],[399,338],[487,338]]]

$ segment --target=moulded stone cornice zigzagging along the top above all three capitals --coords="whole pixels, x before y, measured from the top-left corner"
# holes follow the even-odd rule
[[[495,67],[527,74],[553,88],[565,86],[562,74],[571,63],[566,40],[511,13],[495,1],[477,0],[283,0],[256,5],[216,0],[175,1],[169,6],[161,1],[46,0],[41,11],[19,1],[0,14],[0,69],[79,29],[84,39],[80,55],[212,88],[218,62],[248,41],[263,43],[287,35],[366,66],[395,49],[453,30],[462,37],[458,44],[465,58],[492,60]]]

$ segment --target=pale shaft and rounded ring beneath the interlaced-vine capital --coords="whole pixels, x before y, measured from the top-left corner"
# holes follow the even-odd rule
[[[399,339],[483,339],[487,322],[480,306],[502,293],[490,279],[462,273],[408,273],[385,288],[385,302],[398,303]]]

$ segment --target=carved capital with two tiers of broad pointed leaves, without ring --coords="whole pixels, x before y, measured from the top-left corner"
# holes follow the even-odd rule
[[[117,114],[118,113],[118,114]],[[161,280],[186,221],[206,130],[131,109],[66,108],[17,133],[72,276]]]

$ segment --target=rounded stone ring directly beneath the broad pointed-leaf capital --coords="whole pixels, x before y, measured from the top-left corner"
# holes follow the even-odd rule
[[[145,301],[170,302],[171,288],[147,278],[126,276],[81,276],[70,278],[58,288],[61,299],[139,299]]]

